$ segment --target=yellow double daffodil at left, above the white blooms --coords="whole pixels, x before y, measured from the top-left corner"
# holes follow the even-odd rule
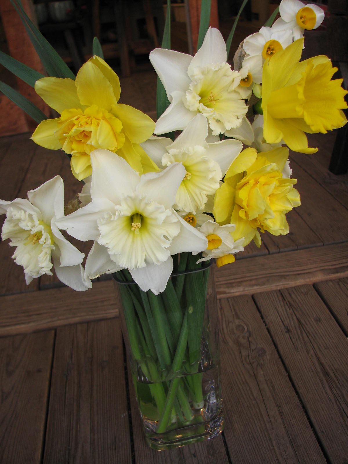
[[[75,81],[43,77],[35,91],[60,117],[42,121],[32,139],[42,147],[72,155],[71,171],[78,180],[92,174],[90,153],[96,148],[117,152],[141,174],[157,170],[139,145],[153,134],[155,122],[117,103],[120,81],[101,58],[90,58]]]

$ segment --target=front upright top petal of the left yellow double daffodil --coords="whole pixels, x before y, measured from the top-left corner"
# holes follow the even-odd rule
[[[80,102],[86,106],[96,104],[107,111],[117,103],[112,85],[103,72],[90,61],[87,61],[77,73],[77,95]]]

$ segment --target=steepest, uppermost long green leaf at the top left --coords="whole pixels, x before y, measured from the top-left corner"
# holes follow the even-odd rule
[[[52,45],[47,42],[45,37],[39,32],[38,28],[34,25],[32,20],[26,14],[20,0],[10,0],[11,4],[15,8],[16,12],[26,28],[26,32],[34,45],[42,64],[45,66],[46,71],[50,76],[54,77],[70,77],[75,79],[74,73],[71,71],[69,66],[64,63],[63,59],[54,50]],[[17,4],[16,4],[17,3]]]

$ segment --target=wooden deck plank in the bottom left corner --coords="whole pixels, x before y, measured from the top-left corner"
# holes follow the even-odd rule
[[[39,464],[54,332],[0,338],[0,462]]]

